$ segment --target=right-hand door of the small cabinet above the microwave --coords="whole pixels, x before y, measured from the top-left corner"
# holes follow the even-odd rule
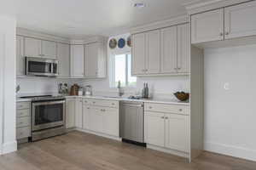
[[[42,56],[46,59],[56,59],[56,42],[42,41]]]

